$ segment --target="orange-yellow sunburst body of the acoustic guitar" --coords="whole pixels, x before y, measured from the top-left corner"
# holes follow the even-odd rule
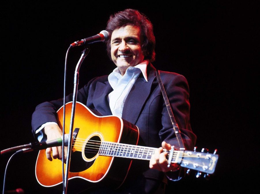
[[[65,133],[69,133],[71,107],[72,102],[66,104]],[[63,107],[57,111],[57,115],[59,127],[63,129]],[[122,160],[118,157],[99,155],[98,147],[94,153],[88,154],[88,144],[94,141],[137,145],[138,128],[117,116],[97,116],[79,102],[76,103],[73,130],[75,128],[79,128],[79,131],[72,145],[69,180],[72,178],[87,180],[88,187],[99,184],[109,184],[114,189],[120,187],[129,171],[131,159]],[[44,187],[61,184],[62,162],[59,159],[49,161],[45,150],[40,150],[35,174],[39,184]],[[111,182],[113,184],[110,184]]]

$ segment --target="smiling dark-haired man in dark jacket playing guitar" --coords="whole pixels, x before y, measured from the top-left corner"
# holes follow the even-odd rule
[[[150,20],[137,10],[127,9],[110,16],[106,30],[111,34],[107,42],[108,55],[117,66],[109,76],[93,78],[78,91],[77,101],[101,115],[117,115],[136,125],[140,130],[140,144],[160,147],[150,163],[133,160],[124,184],[116,193],[164,193],[166,178],[178,166],[167,167],[166,153],[171,146],[179,147],[172,123],[156,78],[155,37]],[[189,87],[186,79],[176,73],[162,72],[167,96],[179,125],[186,150],[194,147],[196,136],[189,121]],[[66,102],[72,101],[72,94]],[[35,137],[47,141],[60,138],[56,111],[63,99],[38,105],[33,113]],[[52,156],[51,156],[52,151]],[[67,150],[65,150],[66,152]],[[61,159],[61,147],[46,149],[46,157]],[[149,169],[150,167],[150,169]],[[165,173],[166,172],[166,173]],[[93,193],[112,193],[103,188]]]

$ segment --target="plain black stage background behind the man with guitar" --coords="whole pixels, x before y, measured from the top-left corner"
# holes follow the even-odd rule
[[[104,30],[110,14],[125,8],[140,10],[154,25],[153,65],[187,78],[196,146],[210,152],[218,149],[219,161],[210,180],[191,174],[170,183],[167,193],[253,191],[257,180],[253,176],[258,177],[259,171],[257,1],[173,1],[172,5],[11,1],[1,5],[1,150],[34,142],[31,114],[37,104],[63,97],[69,45]],[[81,50],[69,52],[68,93],[73,91]],[[80,68],[79,88],[114,68],[105,44],[93,44]],[[1,188],[11,155],[1,156]],[[37,152],[30,152],[10,161],[6,190],[56,193],[36,181],[36,158]]]

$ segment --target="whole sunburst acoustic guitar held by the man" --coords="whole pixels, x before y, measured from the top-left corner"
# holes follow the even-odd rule
[[[66,110],[71,110],[72,102]],[[65,114],[65,133],[69,133],[71,111]],[[57,111],[59,127],[63,124],[63,107]],[[82,103],[76,103],[74,131],[71,152],[69,180],[86,180],[90,187],[109,180],[115,188],[125,180],[132,159],[150,160],[156,148],[138,146],[138,127],[118,116],[97,116]],[[205,152],[179,151],[168,152],[172,163],[213,174],[218,155]],[[65,164],[64,169],[65,169]],[[120,172],[120,173],[118,173]],[[35,167],[37,181],[44,187],[61,184],[62,161],[46,158],[45,150],[40,150]],[[110,184],[111,185],[111,184]]]

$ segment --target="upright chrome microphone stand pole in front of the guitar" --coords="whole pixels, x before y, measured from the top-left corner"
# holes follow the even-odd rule
[[[72,137],[73,137],[72,133],[73,133],[74,117],[75,117],[75,110],[76,110],[76,100],[77,100],[77,92],[78,92],[79,69],[80,69],[80,65],[82,64],[83,60],[88,55],[89,50],[90,50],[90,48],[86,47],[82,51],[82,55],[80,57],[80,60],[78,61],[78,64],[75,69],[75,74],[74,74],[74,90],[73,90],[73,100],[72,100],[71,118],[70,118],[70,127],[69,127],[68,151],[67,151],[65,178],[64,178],[65,190],[63,191],[63,193],[65,193],[65,194],[67,193],[67,186],[68,186],[68,174],[69,174]]]

